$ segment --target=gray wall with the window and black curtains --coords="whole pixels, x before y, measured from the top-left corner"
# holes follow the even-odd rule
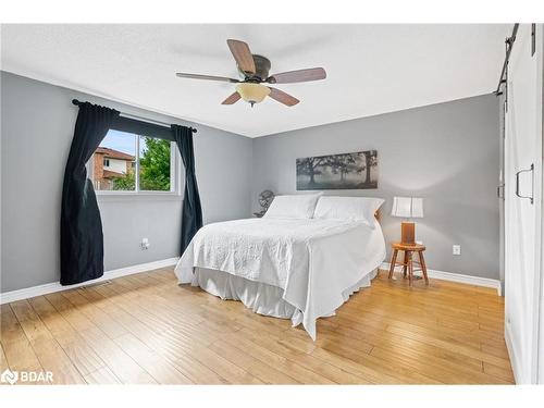
[[[77,108],[73,98],[193,125],[205,222],[250,214],[252,141],[243,136],[0,73],[1,292],[59,281],[59,214]],[[100,198],[104,268],[178,256],[181,197]],[[150,249],[141,250],[143,237]]]

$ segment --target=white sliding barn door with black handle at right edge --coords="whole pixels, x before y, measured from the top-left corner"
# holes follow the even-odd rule
[[[508,64],[505,336],[517,383],[536,383],[542,220],[542,25],[521,24]],[[532,197],[531,198],[521,198]]]

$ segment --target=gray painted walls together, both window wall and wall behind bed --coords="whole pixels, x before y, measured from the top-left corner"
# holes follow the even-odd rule
[[[399,219],[392,197],[425,198],[417,220],[429,268],[498,275],[499,107],[493,96],[249,139],[227,132],[0,73],[1,292],[59,280],[59,212],[64,165],[77,108],[73,98],[168,123],[198,127],[197,177],[205,222],[247,218],[264,188],[296,193],[296,158],[376,149],[379,189],[326,191],[379,196],[387,240]],[[104,267],[112,270],[177,256],[181,198],[99,198]],[[147,251],[139,249],[150,239]],[[452,245],[461,245],[461,256]]]

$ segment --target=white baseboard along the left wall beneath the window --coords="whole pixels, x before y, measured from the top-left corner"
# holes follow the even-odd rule
[[[96,283],[100,283],[103,281],[109,281],[115,277],[132,275],[134,273],[140,273],[146,271],[152,271],[153,269],[172,267],[177,263],[180,258],[168,258],[161,259],[154,262],[140,263],[133,267],[126,267],[121,269],[114,269],[112,271],[104,272],[103,275],[99,279],[87,281],[84,283],[78,283],[75,285],[62,286],[59,282],[47,283],[45,285],[27,287],[25,289],[12,290],[0,294],[0,305],[9,304],[11,301],[28,299],[30,297],[41,296],[51,294],[53,292],[67,290],[74,287],[82,287],[94,285]]]

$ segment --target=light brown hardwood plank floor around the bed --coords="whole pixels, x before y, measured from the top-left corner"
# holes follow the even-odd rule
[[[1,307],[0,370],[54,383],[508,384],[504,299],[382,271],[312,342],[290,322],[177,286],[172,269]]]

